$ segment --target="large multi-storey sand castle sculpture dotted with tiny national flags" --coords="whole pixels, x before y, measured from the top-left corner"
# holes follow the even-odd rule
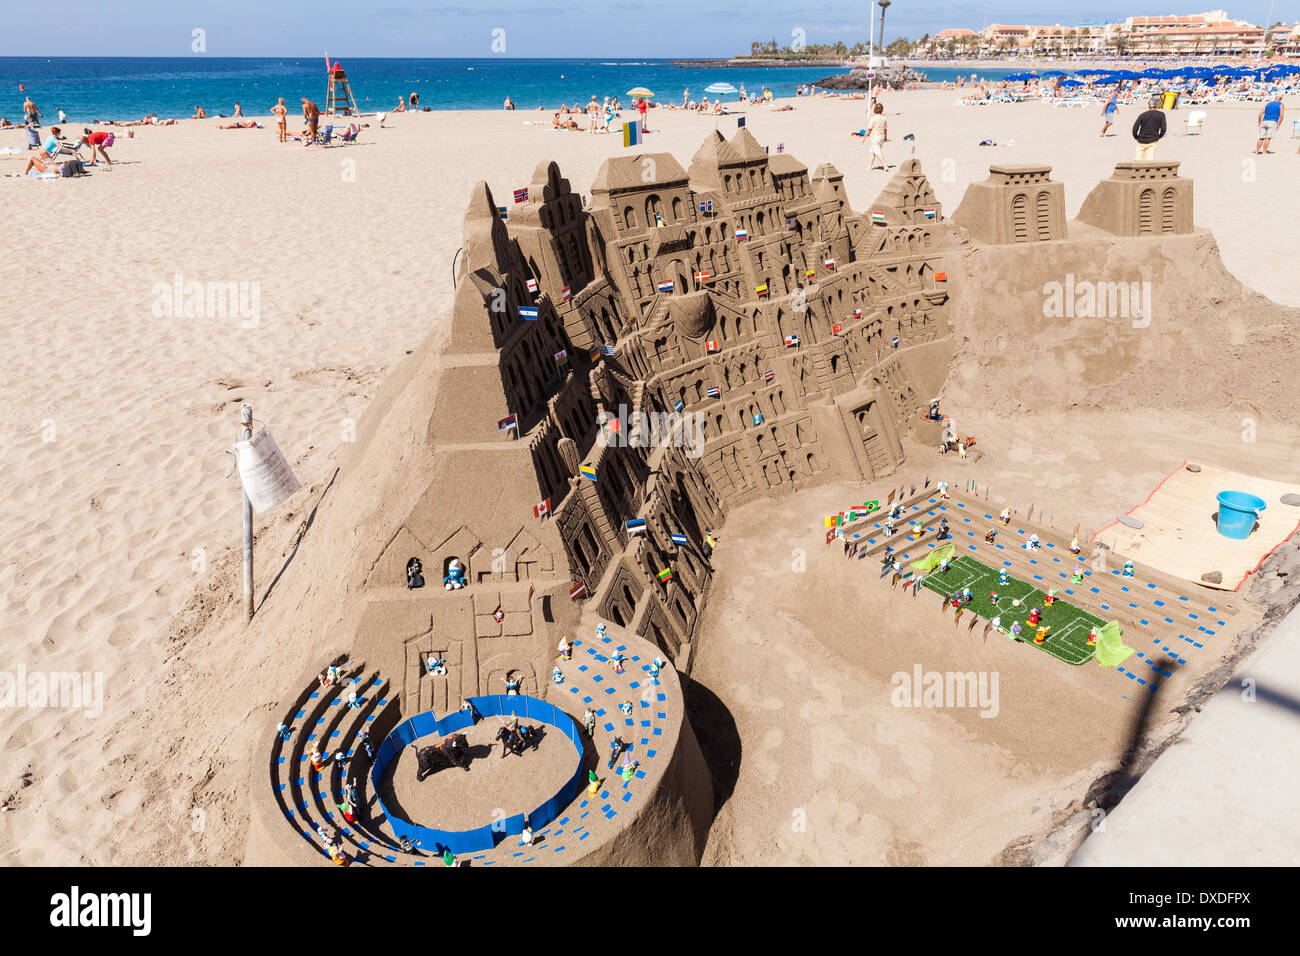
[[[1062,238],[1048,173],[994,168],[962,203],[968,230]],[[507,679],[577,717],[593,697],[612,702],[602,695],[615,688],[581,662],[604,665],[616,648],[636,663],[619,687],[646,708],[627,732],[654,724],[636,750],[649,775],[604,803],[604,832],[554,862],[692,862],[711,787],[676,671],[701,639],[710,529],[754,496],[885,476],[904,437],[937,442],[926,411],[953,358],[948,271],[963,237],[916,160],[855,212],[835,166],[810,173],[740,129],[711,134],[686,169],[667,153],[610,159],[589,204],[554,163],[514,198],[499,206],[485,183],[471,196],[450,334],[411,372],[436,386],[400,412],[420,433],[402,467],[428,481],[385,503],[342,614],[364,706],[332,717],[342,693],[311,687],[283,708],[274,803],[263,780],[255,797],[280,847],[268,858],[320,862],[312,830],[341,825],[330,808],[347,771],[304,773],[329,727],[355,753],[361,728],[378,743]],[[1183,222],[1190,186],[1175,202]],[[1127,234],[1127,220],[1102,219]],[[412,559],[422,588],[408,587]],[[586,646],[554,684],[562,636]],[[445,674],[429,674],[430,653]],[[593,735],[598,752],[614,732]],[[281,839],[280,817],[303,839]],[[380,848],[374,860],[408,861],[382,825],[354,829],[359,848]]]

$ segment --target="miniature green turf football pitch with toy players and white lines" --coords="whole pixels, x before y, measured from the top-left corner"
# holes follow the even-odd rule
[[[1066,663],[1087,663],[1091,661],[1095,648],[1088,646],[1088,631],[1093,627],[1100,628],[1106,623],[1101,618],[1062,601],[1060,597],[1048,607],[1044,601],[1046,592],[1015,578],[1009,579],[1005,587],[998,587],[997,571],[965,554],[957,557],[949,564],[948,574],[939,574],[937,570],[927,572],[922,587],[930,588],[945,597],[954,591],[970,588],[971,602],[966,605],[963,613],[972,610],[985,620],[1000,617],[1002,627],[1008,633],[1011,631],[1011,623],[1019,620],[1023,628],[1020,639],[1026,644],[1041,648],[1052,654],[1052,657],[1060,658]],[[988,600],[991,591],[997,592],[996,607]],[[1015,598],[1020,600],[1019,607],[1011,606],[1011,601]],[[1041,611],[1040,622],[1052,626],[1043,644],[1034,643],[1034,632],[1037,628],[1028,623],[1030,611],[1035,607]]]

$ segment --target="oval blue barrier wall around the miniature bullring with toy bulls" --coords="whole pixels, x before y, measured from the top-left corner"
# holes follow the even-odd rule
[[[387,817],[393,832],[412,843],[419,842],[420,847],[429,852],[450,849],[458,855],[472,853],[491,849],[506,836],[521,834],[525,823],[534,831],[540,830],[555,819],[573,801],[582,791],[582,784],[586,780],[586,771],[582,769],[582,737],[578,735],[577,722],[554,704],[547,704],[537,697],[504,693],[469,697],[468,700],[480,717],[504,717],[512,713],[520,721],[545,723],[560,731],[573,744],[573,750],[576,752],[573,775],[558,793],[532,813],[516,813],[514,817],[488,823],[477,830],[436,830],[433,827],[417,826],[411,821],[394,816],[384,805],[384,801],[378,796],[380,778],[384,777],[384,771],[387,770],[393,758],[402,752],[402,748],[433,734],[438,736],[455,734],[472,726],[474,718],[469,711],[458,710],[438,719],[433,715],[432,710],[426,710],[422,714],[416,714],[403,721],[380,744],[380,750],[374,756],[374,763],[370,765],[370,792],[374,793],[374,801],[380,805],[380,810]]]

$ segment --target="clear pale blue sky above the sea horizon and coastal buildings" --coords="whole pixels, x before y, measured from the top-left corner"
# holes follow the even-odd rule
[[[1197,13],[1216,5],[1162,0],[992,0],[988,22],[1076,23],[1132,14]],[[491,31],[506,31],[506,56],[729,56],[750,40],[785,46],[801,29],[809,43],[866,39],[867,3],[826,0],[21,0],[8,4],[0,56],[194,56],[205,31],[208,56],[498,55]],[[979,30],[982,0],[893,0],[885,39],[945,27]],[[879,18],[879,8],[871,4]],[[1268,0],[1228,4],[1230,16],[1261,23]],[[1300,0],[1277,0],[1273,20],[1294,22]],[[879,20],[878,20],[879,22]]]

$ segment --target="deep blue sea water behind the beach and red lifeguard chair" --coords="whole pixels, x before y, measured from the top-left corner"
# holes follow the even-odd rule
[[[420,94],[420,105],[433,109],[499,109],[508,95],[520,109],[562,103],[585,104],[645,86],[662,101],[681,101],[684,88],[699,99],[705,87],[742,83],[757,92],[793,96],[796,87],[844,72],[832,66],[793,68],[677,68],[668,60],[395,60],[337,57],[347,70],[352,95],[363,112],[391,111],[399,96]],[[959,70],[926,70],[931,79],[952,79]],[[1005,70],[984,72],[989,78]],[[68,113],[72,122],[138,120],[147,113],[183,118],[202,105],[209,116],[243,112],[264,116],[283,96],[290,114],[302,96],[325,107],[325,59],[192,57],[0,57],[0,116],[22,118],[22,101],[31,96],[46,122]],[[23,88],[20,88],[23,87]],[[710,95],[710,100],[715,96]],[[724,99],[734,101],[734,95]]]

